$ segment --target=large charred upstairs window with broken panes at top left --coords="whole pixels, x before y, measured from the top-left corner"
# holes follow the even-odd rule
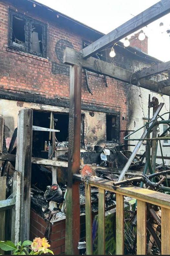
[[[9,47],[47,58],[47,25],[10,10]]]

